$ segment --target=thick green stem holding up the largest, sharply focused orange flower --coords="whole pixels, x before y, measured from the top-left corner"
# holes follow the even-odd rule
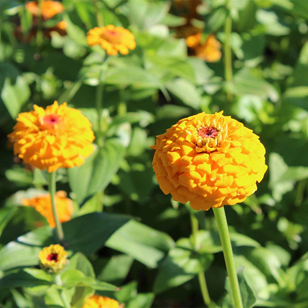
[[[235,308],[243,308],[239,281],[237,278],[234,257],[232,252],[232,245],[230,241],[230,235],[228,230],[228,223],[224,211],[224,207],[214,208],[214,215],[218,225],[218,231],[220,236],[220,241],[223,250],[223,256],[225,259],[227,273],[230,280],[232,298]]]

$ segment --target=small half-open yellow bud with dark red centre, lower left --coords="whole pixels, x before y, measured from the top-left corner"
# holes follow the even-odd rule
[[[44,247],[38,254],[40,265],[47,272],[60,272],[67,263],[67,251],[59,245]]]

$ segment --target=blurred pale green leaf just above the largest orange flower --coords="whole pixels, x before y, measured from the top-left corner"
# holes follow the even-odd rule
[[[196,86],[186,79],[177,78],[167,82],[166,88],[185,105],[199,109],[201,97]]]

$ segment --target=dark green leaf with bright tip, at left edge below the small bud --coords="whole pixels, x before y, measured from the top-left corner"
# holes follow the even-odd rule
[[[43,269],[25,268],[1,278],[0,288],[48,285],[52,284],[52,281],[52,276],[45,273]]]

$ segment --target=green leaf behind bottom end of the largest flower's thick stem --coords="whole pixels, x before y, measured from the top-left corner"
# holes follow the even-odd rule
[[[238,272],[238,280],[239,280],[239,285],[240,285],[240,293],[241,293],[241,297],[242,297],[243,307],[245,307],[245,308],[254,307],[254,305],[257,301],[257,298],[255,296],[254,291],[252,290],[252,288],[247,283],[243,271]],[[234,304],[233,304],[233,299],[232,299],[231,286],[230,286],[230,282],[229,282],[228,278],[226,279],[225,288],[226,288],[228,294],[224,298],[222,307],[223,308],[233,308]]]

